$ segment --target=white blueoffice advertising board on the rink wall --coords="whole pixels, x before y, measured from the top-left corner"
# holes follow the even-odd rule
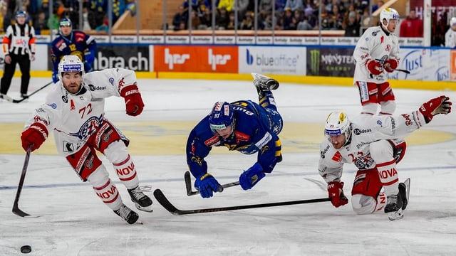
[[[239,46],[239,73],[306,75],[305,47]]]

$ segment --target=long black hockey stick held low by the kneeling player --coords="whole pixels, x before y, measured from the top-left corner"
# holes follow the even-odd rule
[[[259,203],[259,204],[244,205],[244,206],[226,206],[226,207],[219,207],[219,208],[180,210],[172,205],[172,203],[166,198],[166,196],[163,194],[163,192],[160,189],[155,189],[154,196],[155,196],[155,199],[157,199],[158,203],[160,203],[163,206],[163,208],[165,208],[167,211],[169,211],[173,215],[185,215],[185,214],[195,214],[195,213],[214,213],[214,212],[227,211],[227,210],[244,210],[244,209],[251,209],[251,208],[264,208],[264,207],[274,207],[274,206],[291,206],[291,205],[303,204],[303,203],[319,203],[319,202],[331,201],[331,199],[329,199],[329,198],[317,198],[317,199],[286,201],[286,202],[277,202],[277,203]]]

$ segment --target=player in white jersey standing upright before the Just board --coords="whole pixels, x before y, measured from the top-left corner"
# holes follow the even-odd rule
[[[384,71],[393,72],[399,65],[399,42],[394,34],[398,23],[398,11],[385,8],[380,12],[380,26],[366,29],[356,44],[353,82],[359,89],[361,114],[377,114],[378,104],[378,114],[395,111],[395,96]]]

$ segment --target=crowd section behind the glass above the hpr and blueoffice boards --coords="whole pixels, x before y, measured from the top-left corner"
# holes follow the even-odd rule
[[[255,17],[253,0],[216,0],[215,29],[227,30],[237,26],[240,30],[251,30],[256,19],[259,30],[346,30],[348,36],[360,36],[361,19],[370,14],[368,1],[323,0],[321,6],[319,3],[314,0],[259,0]],[[383,1],[373,5],[373,11],[381,4]],[[318,25],[320,8],[321,25]],[[192,29],[212,29],[212,1],[183,1],[172,19],[172,28],[185,30],[189,24]]]

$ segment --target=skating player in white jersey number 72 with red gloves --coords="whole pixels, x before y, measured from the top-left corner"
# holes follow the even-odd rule
[[[103,153],[113,164],[120,181],[128,188],[131,200],[140,210],[152,211],[152,200],[139,188],[135,164],[128,154],[129,140],[105,118],[105,97],[124,97],[126,112],[136,116],[144,103],[132,70],[110,68],[84,73],[76,55],[63,56],[58,65],[60,82],[45,103],[26,122],[21,134],[22,147],[34,151],[53,131],[58,153],[66,157],[76,174],[89,181],[96,195],[128,223],[139,216],[125,206],[108,171],[98,159]]]

